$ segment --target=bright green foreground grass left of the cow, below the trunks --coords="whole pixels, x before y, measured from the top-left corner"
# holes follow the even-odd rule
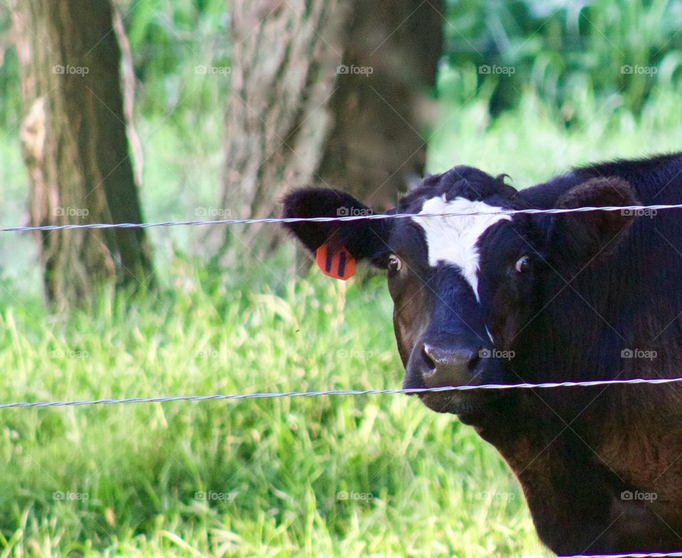
[[[68,319],[38,301],[6,307],[0,400],[400,384],[379,278],[360,289],[268,269],[227,284],[201,275],[181,266],[182,294]],[[540,552],[494,449],[404,395],[12,409],[0,418],[3,555]],[[342,491],[359,499],[337,498]],[[58,492],[73,499],[55,500]]]

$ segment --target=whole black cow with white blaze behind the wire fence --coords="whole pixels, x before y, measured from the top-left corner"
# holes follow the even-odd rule
[[[681,202],[682,153],[589,165],[519,192],[458,166],[394,211],[476,215],[287,226],[310,250],[325,246],[323,267],[343,254],[387,270],[406,388],[671,378],[682,376],[680,210],[499,210]],[[284,217],[359,212],[369,209],[335,190],[284,200]],[[679,384],[418,396],[497,448],[554,552],[682,549]]]

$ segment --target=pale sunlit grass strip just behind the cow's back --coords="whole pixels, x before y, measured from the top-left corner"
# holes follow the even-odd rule
[[[573,100],[583,124],[568,128],[556,124],[530,90],[525,93],[517,111],[492,123],[485,99],[465,106],[443,104],[438,124],[425,135],[429,170],[472,165],[493,175],[507,173],[520,189],[575,165],[682,151],[682,94],[677,89],[656,89],[639,119],[618,96],[595,101],[585,89]]]

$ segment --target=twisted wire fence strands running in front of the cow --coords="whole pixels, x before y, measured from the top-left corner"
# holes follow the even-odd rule
[[[1,228],[3,232],[31,232],[31,231],[60,231],[74,229],[148,229],[152,227],[166,226],[210,226],[210,225],[236,225],[236,224],[265,224],[265,223],[303,223],[303,222],[332,222],[332,221],[359,221],[372,219],[407,219],[411,217],[469,217],[475,215],[515,215],[515,214],[564,214],[584,212],[622,212],[632,217],[646,215],[653,217],[659,210],[682,209],[682,204],[656,204],[656,205],[631,205],[631,206],[607,206],[607,207],[577,207],[556,209],[502,209],[497,212],[453,212],[453,213],[395,213],[395,214],[362,214],[362,215],[339,215],[337,217],[265,217],[261,219],[218,219],[202,221],[162,221],[156,223],[87,223],[87,224],[64,224],[44,226],[13,226]],[[168,403],[173,401],[209,401],[209,400],[243,400],[265,398],[298,398],[319,397],[332,395],[418,395],[420,393],[454,392],[470,390],[511,390],[511,389],[546,389],[546,388],[580,388],[598,385],[639,385],[639,384],[668,384],[682,382],[682,378],[632,378],[625,380],[595,380],[578,382],[546,382],[546,383],[517,383],[517,384],[485,384],[485,385],[459,385],[444,386],[439,388],[412,388],[412,389],[366,389],[366,390],[314,390],[314,391],[285,391],[285,392],[254,392],[254,393],[215,393],[212,395],[168,395],[143,398],[121,399],[84,399],[63,401],[20,401],[13,403],[0,403],[0,409],[17,407],[75,407],[81,405],[112,405],[131,403]],[[650,552],[627,554],[576,554],[563,558],[682,558],[682,552]]]

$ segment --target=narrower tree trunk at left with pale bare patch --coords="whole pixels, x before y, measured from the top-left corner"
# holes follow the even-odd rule
[[[109,0],[13,0],[21,141],[33,225],[141,222]],[[142,229],[38,237],[45,295],[82,305],[108,284],[153,283]]]

